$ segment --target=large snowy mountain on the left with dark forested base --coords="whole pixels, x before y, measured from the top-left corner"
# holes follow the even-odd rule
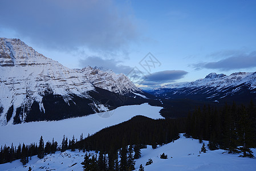
[[[64,67],[20,39],[0,38],[0,73],[0,125],[84,116],[146,98],[124,74]]]

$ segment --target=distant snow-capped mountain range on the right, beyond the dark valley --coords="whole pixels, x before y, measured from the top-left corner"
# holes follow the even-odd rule
[[[250,101],[256,98],[256,72],[235,72],[231,75],[210,73],[204,79],[169,84],[149,93],[163,99]]]

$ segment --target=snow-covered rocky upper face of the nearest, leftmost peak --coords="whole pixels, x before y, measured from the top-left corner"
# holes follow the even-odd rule
[[[46,58],[19,39],[0,39],[0,105],[3,114],[13,105],[15,109],[23,104],[38,101],[44,111],[42,97],[51,90],[55,95],[70,100],[69,94],[88,97],[92,84],[80,73]],[[14,115],[13,115],[14,117]],[[13,123],[13,117],[10,123]],[[1,115],[1,123],[6,123]]]

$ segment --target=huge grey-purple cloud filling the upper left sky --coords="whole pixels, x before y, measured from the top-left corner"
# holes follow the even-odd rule
[[[0,1],[0,21],[2,29],[63,51],[123,50],[139,35],[129,7],[111,0]]]

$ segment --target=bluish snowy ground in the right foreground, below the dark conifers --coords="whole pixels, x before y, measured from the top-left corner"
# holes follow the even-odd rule
[[[208,141],[204,141],[205,145]],[[180,139],[152,149],[141,149],[141,158],[136,160],[136,169],[142,164],[146,171],[155,170],[256,170],[256,159],[238,157],[240,154],[223,153],[225,150],[211,151],[207,148],[206,153],[199,153],[202,144],[196,139]],[[256,150],[252,149],[254,154]],[[165,153],[168,159],[161,159],[160,154]],[[222,154],[223,153],[223,154]],[[199,155],[199,156],[198,156]],[[153,164],[145,166],[149,158]]]

